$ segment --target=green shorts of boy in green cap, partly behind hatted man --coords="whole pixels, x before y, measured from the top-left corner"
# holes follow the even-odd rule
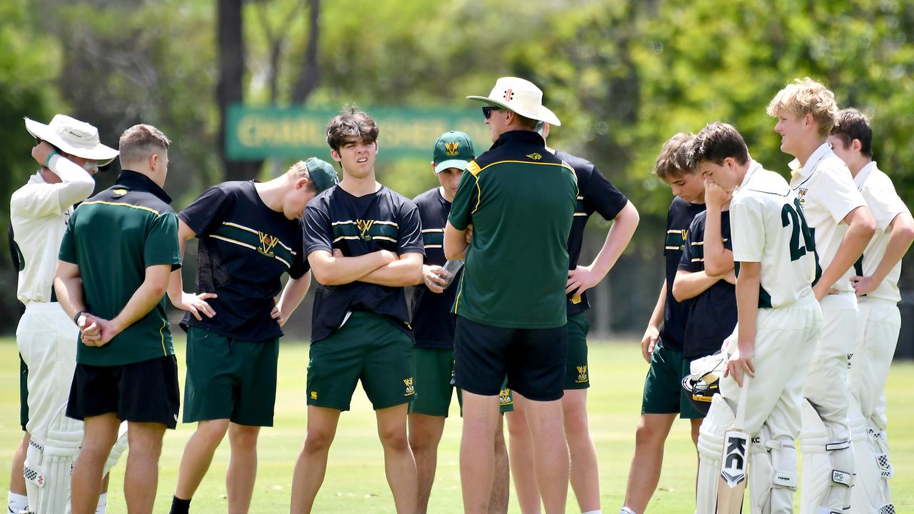
[[[450,348],[412,348],[412,362],[416,391],[419,391],[420,394],[409,404],[409,412],[447,417],[455,389],[457,390],[457,402],[460,403],[462,412],[462,391],[453,385],[454,350]],[[501,412],[514,411],[514,398],[511,390],[502,389],[498,398]]]

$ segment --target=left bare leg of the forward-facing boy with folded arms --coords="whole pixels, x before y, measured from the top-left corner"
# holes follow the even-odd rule
[[[308,405],[308,431],[292,473],[292,514],[311,512],[314,498],[324,483],[327,454],[336,435],[340,411]]]

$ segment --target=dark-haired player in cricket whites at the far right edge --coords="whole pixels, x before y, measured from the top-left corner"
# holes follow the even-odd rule
[[[873,160],[873,130],[856,109],[838,112],[828,142],[854,177],[876,220],[876,235],[851,277],[860,310],[847,382],[856,402],[848,414],[857,462],[851,505],[857,512],[893,512],[888,478],[886,377],[898,344],[898,276],[901,258],[914,241],[914,220],[895,186]],[[859,407],[859,411],[856,410]]]

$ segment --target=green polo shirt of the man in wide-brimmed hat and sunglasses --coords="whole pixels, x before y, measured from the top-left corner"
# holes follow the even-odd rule
[[[492,327],[563,327],[577,198],[574,170],[535,132],[502,134],[472,161],[448,217],[457,230],[473,224],[452,312]]]

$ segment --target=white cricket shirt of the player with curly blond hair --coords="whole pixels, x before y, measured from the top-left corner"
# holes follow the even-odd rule
[[[847,214],[858,208],[866,207],[866,201],[854,186],[851,171],[840,157],[834,155],[831,145],[824,143],[813,155],[809,156],[806,166],[798,166],[794,160],[791,187],[800,199],[806,223],[813,230],[815,250],[819,255],[822,270],[834,260],[841,241],[845,237],[847,224],[842,221]],[[853,266],[831,287],[838,291],[850,293]]]

